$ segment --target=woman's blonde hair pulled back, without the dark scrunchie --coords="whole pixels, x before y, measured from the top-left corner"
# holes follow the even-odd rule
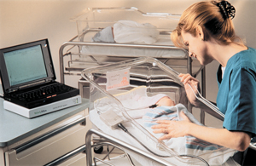
[[[181,32],[189,32],[196,36],[196,27],[201,26],[204,32],[204,40],[214,38],[219,44],[227,45],[237,43],[243,45],[240,37],[236,36],[233,22],[230,18],[224,18],[218,3],[221,1],[205,1],[192,4],[186,9],[174,31],[171,39],[175,46],[187,49],[183,43]]]

